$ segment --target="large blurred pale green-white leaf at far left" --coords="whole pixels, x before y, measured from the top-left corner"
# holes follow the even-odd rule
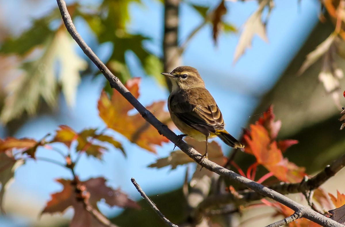
[[[19,117],[24,111],[34,115],[40,98],[53,107],[56,105],[57,67],[60,62],[62,91],[67,103],[75,102],[79,71],[86,69],[87,63],[75,52],[75,43],[65,29],[56,31],[55,36],[47,39],[41,56],[22,65],[24,72],[8,86],[0,120],[3,123]]]

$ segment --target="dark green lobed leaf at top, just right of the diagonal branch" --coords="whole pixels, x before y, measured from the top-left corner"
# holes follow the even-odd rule
[[[150,56],[150,53],[142,46],[142,42],[148,38],[140,34],[129,34],[126,31],[126,24],[130,20],[129,5],[133,2],[140,1],[104,0],[97,14],[80,14],[87,21],[90,29],[95,32],[99,43],[111,42],[114,45],[106,64],[122,82],[126,82],[131,77],[126,66],[127,51],[132,51],[142,65],[145,65],[146,59]]]

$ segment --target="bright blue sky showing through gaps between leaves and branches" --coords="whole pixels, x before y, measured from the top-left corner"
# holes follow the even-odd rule
[[[5,2],[7,1],[0,0],[1,4]],[[146,43],[146,47],[161,54],[162,5],[155,0],[143,0],[143,2],[145,6],[136,3],[131,6],[131,14],[135,16],[132,17],[129,28],[132,32],[140,32],[152,37],[152,41]],[[202,2],[206,4],[210,1],[203,0]],[[37,15],[46,12],[49,7],[55,6],[56,2],[51,1],[45,4],[47,6],[41,11],[38,10]],[[257,7],[255,1],[227,2],[226,4],[229,9],[226,20],[239,28]],[[317,1],[303,0],[298,3],[297,0],[279,0],[275,1],[275,4],[276,7],[267,24],[269,42],[266,43],[255,37],[252,48],[246,51],[236,65],[233,65],[233,55],[239,34],[221,34],[218,46],[215,47],[211,39],[210,26],[205,26],[197,33],[183,54],[183,64],[199,70],[206,82],[206,87],[213,94],[223,112],[226,129],[234,136],[238,136],[248,119],[257,114],[253,111],[259,98],[274,85],[318,21],[319,3]],[[6,3],[5,7],[9,7],[9,11],[13,12],[13,5]],[[20,14],[21,10],[14,11],[9,18],[16,18],[16,13]],[[26,12],[24,16],[31,17],[32,14]],[[181,7],[180,18],[180,40],[183,40],[202,19],[186,4]],[[86,37],[88,30],[82,25],[79,23],[80,27],[78,27],[77,24],[77,29],[82,36]],[[22,24],[22,26],[26,27],[29,24]],[[92,37],[87,37],[86,41],[91,42]],[[102,49],[107,52],[107,46]],[[104,52],[100,53],[105,58]],[[81,51],[79,53],[82,54]],[[136,75],[142,76],[140,70],[134,72]],[[79,86],[76,106],[72,110],[66,106],[61,97],[60,107],[53,116],[43,115],[29,120],[15,136],[39,139],[47,132],[55,131],[60,124],[69,125],[75,130],[89,127],[101,128],[103,123],[98,117],[96,107],[103,82],[102,77],[96,79],[86,77]],[[139,101],[144,105],[149,105],[156,100],[166,100],[168,97],[166,90],[158,87],[155,81],[147,77],[142,80],[140,93]],[[0,132],[0,136],[2,135]],[[124,158],[117,150],[107,152],[102,162],[94,158],[83,157],[76,169],[82,180],[105,176],[109,179],[110,186],[121,187],[133,199],[139,199],[140,195],[131,184],[131,177],[134,177],[149,195],[175,189],[182,185],[185,166],[178,167],[176,170],[146,168],[158,157],[167,156],[173,148],[172,143],[159,147],[156,156],[130,144],[120,135],[116,135],[116,137],[124,142],[128,157]],[[60,159],[58,155],[52,155],[47,150],[39,150],[37,156]],[[21,197],[31,196],[33,202],[43,208],[45,202],[50,198],[50,194],[61,190],[54,179],[63,177],[70,178],[71,175],[59,166],[42,161],[28,161],[26,165],[18,169],[16,180],[10,186],[5,202],[10,202],[10,198],[17,198],[16,201],[20,201]],[[22,189],[26,191],[25,194],[19,193],[22,192]],[[102,206],[101,209],[107,214],[112,214],[117,210],[109,209],[106,206]],[[22,223],[14,226],[22,226]]]

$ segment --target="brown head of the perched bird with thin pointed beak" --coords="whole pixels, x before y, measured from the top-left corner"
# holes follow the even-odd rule
[[[205,87],[204,80],[200,77],[196,68],[179,66],[172,72],[162,72],[172,82],[172,90]]]

